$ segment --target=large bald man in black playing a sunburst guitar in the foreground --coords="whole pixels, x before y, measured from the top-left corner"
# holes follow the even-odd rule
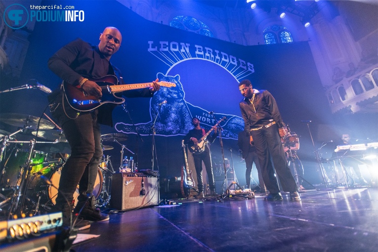
[[[112,55],[121,46],[120,31],[115,27],[107,27],[100,34],[99,40],[98,45],[81,39],[66,44],[48,60],[48,68],[64,82],[81,87],[87,94],[97,97],[102,96],[100,86],[87,78],[115,75],[120,84],[125,84],[120,70],[110,62]],[[152,97],[160,88],[157,81],[149,88],[125,91],[123,94],[126,97]],[[95,208],[95,197],[92,193],[102,157],[100,124],[113,126],[112,111],[115,105],[104,104],[89,112],[79,112],[69,106],[63,89],[55,90],[48,99],[50,112],[59,122],[71,147],[71,156],[62,168],[56,205],[52,210],[62,211],[63,226],[72,228],[72,206],[67,201],[72,202],[80,182],[80,195],[74,212],[80,213],[79,218],[84,220],[81,219],[76,227],[82,230],[89,227],[88,221],[109,220],[108,214]]]

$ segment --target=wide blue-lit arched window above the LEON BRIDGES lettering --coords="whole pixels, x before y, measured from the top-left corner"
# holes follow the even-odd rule
[[[194,17],[175,16],[169,22],[169,26],[214,38],[214,34],[210,31],[209,26]]]

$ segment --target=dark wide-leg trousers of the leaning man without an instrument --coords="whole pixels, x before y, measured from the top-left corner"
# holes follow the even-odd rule
[[[266,189],[268,189],[270,193],[280,192],[274,172],[275,169],[283,190],[285,192],[297,191],[298,188],[296,187],[294,177],[286,162],[286,156],[281,144],[277,125],[252,130],[251,135],[254,145],[256,146],[256,153]],[[270,159],[273,161],[274,168]]]

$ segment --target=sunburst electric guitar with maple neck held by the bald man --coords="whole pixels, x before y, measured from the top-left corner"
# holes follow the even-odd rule
[[[101,87],[102,97],[96,97],[86,93],[80,85],[74,86],[67,82],[62,82],[62,88],[67,102],[73,109],[82,112],[94,110],[106,103],[122,104],[125,102],[125,99],[116,96],[115,93],[152,86],[152,83],[117,85],[118,79],[114,75],[87,79],[97,83]],[[158,82],[158,84],[166,87],[176,86],[176,84],[170,82]]]

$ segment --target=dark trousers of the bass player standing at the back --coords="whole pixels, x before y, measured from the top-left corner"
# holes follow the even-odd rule
[[[204,184],[202,180],[202,161],[204,162],[206,172],[208,173],[210,191],[214,191],[215,184],[214,184],[214,175],[212,173],[210,152],[204,151],[201,154],[193,155],[193,161],[194,161],[194,167],[196,168],[196,172],[197,172],[198,191],[200,192],[204,191]]]

